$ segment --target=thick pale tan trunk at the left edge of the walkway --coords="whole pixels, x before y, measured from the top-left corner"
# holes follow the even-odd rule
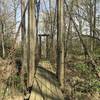
[[[29,1],[28,8],[28,87],[32,87],[35,67],[36,50],[36,20],[35,20],[35,1]]]

